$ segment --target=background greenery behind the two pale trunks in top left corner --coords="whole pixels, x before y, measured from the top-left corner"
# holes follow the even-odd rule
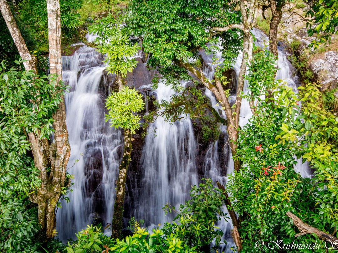
[[[25,40],[28,50],[37,51],[38,69],[46,74],[46,66],[42,55],[48,53],[48,27],[47,27],[47,4],[43,0],[7,1],[11,12],[17,22],[19,30]],[[82,0],[61,0],[61,29],[62,44],[75,42],[78,38],[77,28],[84,21],[77,12],[82,5]],[[0,38],[0,59],[6,60],[15,66],[14,60],[19,59],[19,53],[14,45],[3,18],[0,17],[0,28],[3,34]],[[42,64],[40,64],[43,62]],[[42,66],[41,66],[42,65]]]

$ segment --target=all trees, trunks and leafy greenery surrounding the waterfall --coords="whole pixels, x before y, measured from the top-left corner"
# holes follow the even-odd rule
[[[329,74],[311,66],[337,51],[338,1],[0,0],[0,10],[0,252],[220,252],[227,242],[234,252],[337,252],[338,76],[326,82]],[[309,43],[287,34],[287,15]],[[259,45],[256,29],[268,43]],[[105,78],[114,77],[102,113],[123,150],[111,223],[87,224],[64,244],[56,212],[72,201],[76,178],[66,125],[73,87],[62,57],[84,45],[103,55]],[[281,48],[296,89],[278,79]],[[174,91],[153,99],[155,109],[128,85],[140,58],[153,91],[162,83]],[[241,124],[246,105],[252,116]],[[161,203],[172,222],[150,228],[129,217],[126,226],[135,139],[142,133],[144,141],[161,117],[188,118],[203,145],[227,136],[234,169],[221,175],[224,185],[200,177],[179,207]],[[302,161],[308,176],[295,169]],[[224,219],[231,232],[218,227]]]

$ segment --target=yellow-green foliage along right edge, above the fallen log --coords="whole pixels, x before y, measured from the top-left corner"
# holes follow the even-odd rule
[[[316,226],[338,235],[338,117],[323,109],[321,93],[315,84],[300,88],[304,119],[300,132],[304,133],[299,154],[316,169],[316,209],[311,218]],[[294,143],[295,146],[297,145]]]

